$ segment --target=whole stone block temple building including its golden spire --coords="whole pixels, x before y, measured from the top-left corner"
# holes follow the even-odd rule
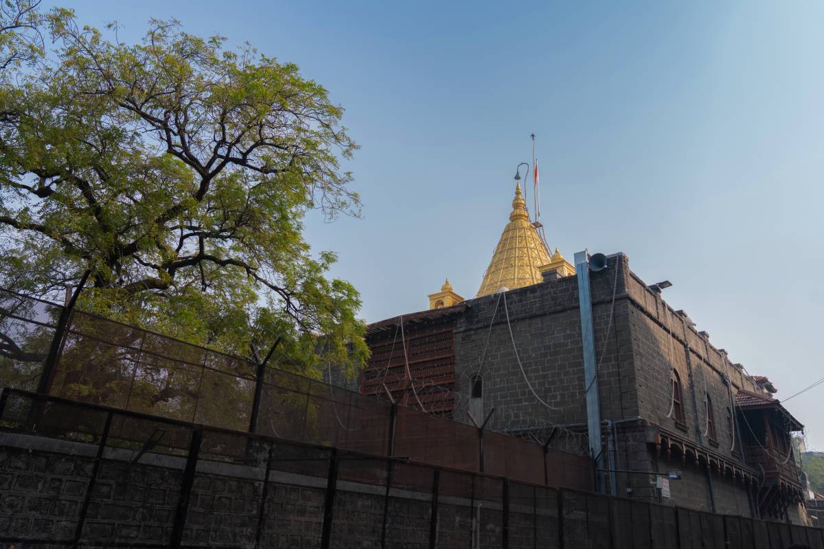
[[[625,254],[597,272],[581,265],[597,374],[589,387],[580,265],[550,254],[517,187],[475,298],[447,281],[430,309],[372,323],[361,391],[582,452],[594,417],[601,440],[589,452],[607,493],[808,523],[790,444],[803,426],[770,380],[732,363]]]

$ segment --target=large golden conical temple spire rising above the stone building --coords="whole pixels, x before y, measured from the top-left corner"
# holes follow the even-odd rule
[[[560,259],[563,261],[563,257]],[[550,258],[538,231],[529,222],[521,185],[516,184],[513,212],[509,214],[509,222],[495,247],[476,297],[489,295],[501,287],[514,290],[537,284],[543,280],[541,271],[545,269],[541,267],[545,268],[550,263],[553,263],[553,258]]]

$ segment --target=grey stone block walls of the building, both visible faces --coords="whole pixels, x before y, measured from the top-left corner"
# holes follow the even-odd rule
[[[724,379],[731,379],[733,394],[741,388],[758,390],[754,380],[741,365],[733,365],[725,351],[714,347],[709,335],[700,333],[686,314],[678,314],[660,293],[649,290],[630,271],[624,254],[611,256],[608,268],[591,273],[591,291],[601,416],[616,421],[616,468],[687,469],[684,480],[672,482],[672,500],[666,503],[709,510],[705,469],[695,472],[695,464],[681,463],[680,457],[667,463],[651,444],[648,427],[659,426],[741,466],[740,430],[733,432],[736,414]],[[499,294],[466,305],[456,323],[456,400],[471,401],[470,380],[480,373],[483,415],[495,409],[489,422],[492,430],[540,434],[552,426],[565,426],[586,432],[577,277],[508,291],[506,309]],[[515,348],[524,371],[517,364]],[[683,421],[676,421],[671,413],[673,369],[681,378]],[[707,394],[714,436],[707,428]],[[456,406],[457,421],[470,422],[466,409],[474,408],[464,406],[461,413]],[[606,452],[606,430],[602,444]],[[718,512],[750,515],[744,486],[719,472],[710,474]],[[658,500],[657,491],[650,487],[653,476],[618,473],[617,481],[619,495],[630,488],[634,497]]]

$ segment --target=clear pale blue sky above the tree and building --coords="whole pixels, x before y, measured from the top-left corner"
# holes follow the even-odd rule
[[[822,2],[58,2],[249,40],[347,109],[363,220],[307,236],[368,321],[475,295],[538,136],[550,246],[630,256],[788,397],[824,376]],[[788,402],[824,449],[824,385]]]

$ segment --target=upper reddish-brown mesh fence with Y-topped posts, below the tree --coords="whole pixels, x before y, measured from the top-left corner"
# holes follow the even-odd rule
[[[520,481],[592,487],[585,456],[0,290],[4,385]]]

